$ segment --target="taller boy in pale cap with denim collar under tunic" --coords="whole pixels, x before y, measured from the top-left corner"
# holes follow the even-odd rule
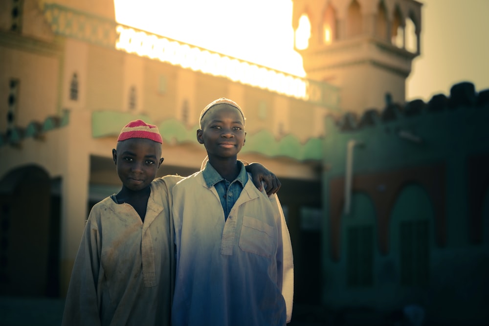
[[[293,259],[276,195],[252,185],[237,155],[244,114],[221,98],[200,114],[205,168],[173,188],[177,275],[173,326],[284,326]]]

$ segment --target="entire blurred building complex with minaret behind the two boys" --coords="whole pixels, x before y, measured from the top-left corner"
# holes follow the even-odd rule
[[[422,3],[294,0],[305,78],[117,23],[113,0],[0,6],[0,295],[65,296],[91,206],[120,189],[122,126],[156,124],[158,175],[189,175],[200,110],[227,97],[240,158],[282,182],[297,306],[333,325],[394,325],[410,305],[486,325],[489,90],[405,101]]]

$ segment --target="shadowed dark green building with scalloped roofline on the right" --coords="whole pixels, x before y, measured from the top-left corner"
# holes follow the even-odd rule
[[[468,82],[428,103],[327,118],[327,305],[381,313],[415,303],[427,325],[487,320],[476,284],[489,285],[488,121],[489,89]]]

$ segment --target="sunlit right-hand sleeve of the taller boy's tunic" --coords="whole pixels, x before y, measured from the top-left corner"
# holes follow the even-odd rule
[[[292,319],[292,305],[294,297],[294,261],[292,256],[292,244],[290,242],[289,229],[285,221],[282,205],[277,195],[269,197],[270,202],[278,218],[280,218],[279,248],[277,250],[278,282],[282,283],[282,296],[287,307],[287,323]]]

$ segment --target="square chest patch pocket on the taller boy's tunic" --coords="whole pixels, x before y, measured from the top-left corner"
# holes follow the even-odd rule
[[[244,216],[239,247],[245,252],[270,258],[274,255],[274,229],[261,220]]]

